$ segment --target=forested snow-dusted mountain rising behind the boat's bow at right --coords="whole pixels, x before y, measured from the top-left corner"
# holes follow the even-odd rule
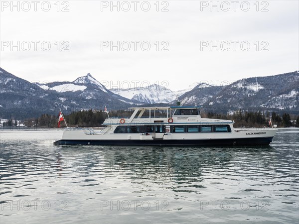
[[[288,110],[299,109],[299,74],[238,80],[227,86],[194,88],[180,97],[187,105],[201,104],[213,110]]]

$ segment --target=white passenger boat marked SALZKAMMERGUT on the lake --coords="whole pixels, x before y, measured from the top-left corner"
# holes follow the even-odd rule
[[[106,118],[104,129],[65,128],[62,139],[54,144],[269,145],[277,132],[273,127],[237,130],[232,120],[201,117],[199,107],[130,109],[134,110],[131,117]]]

